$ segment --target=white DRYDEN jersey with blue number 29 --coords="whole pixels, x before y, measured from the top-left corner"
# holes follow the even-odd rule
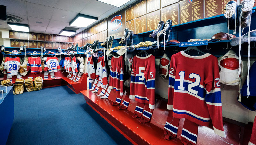
[[[20,58],[19,57],[6,57],[4,62],[4,72],[7,71],[8,76],[14,76],[18,74],[20,68]]]

